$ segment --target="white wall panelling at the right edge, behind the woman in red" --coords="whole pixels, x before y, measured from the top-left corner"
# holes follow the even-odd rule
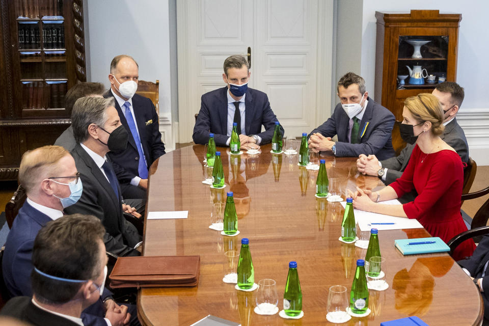
[[[489,108],[465,108],[457,114],[457,122],[464,129],[469,155],[478,166],[489,165]]]

